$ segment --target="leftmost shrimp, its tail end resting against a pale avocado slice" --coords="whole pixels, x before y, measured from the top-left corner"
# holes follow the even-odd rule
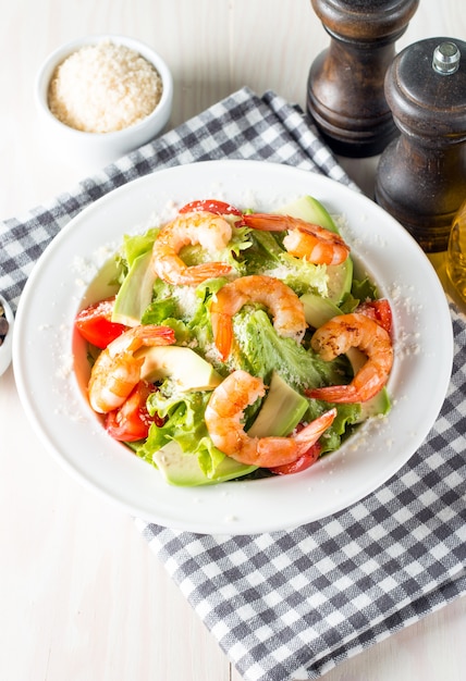
[[[98,356],[90,372],[90,406],[99,413],[118,409],[137,385],[144,358],[134,352],[143,346],[172,345],[174,332],[169,326],[133,326],[112,340]]]

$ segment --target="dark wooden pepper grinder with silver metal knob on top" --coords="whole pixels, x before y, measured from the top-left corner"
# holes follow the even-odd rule
[[[444,251],[466,196],[466,42],[407,47],[387,73],[385,97],[401,136],[380,157],[376,201],[426,252]]]

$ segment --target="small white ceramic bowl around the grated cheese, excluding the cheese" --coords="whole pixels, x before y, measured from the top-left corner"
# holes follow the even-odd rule
[[[49,83],[56,67],[70,54],[102,40],[131,48],[150,62],[162,81],[162,95],[152,113],[139,123],[112,133],[86,133],[65,125],[52,114],[48,106]],[[42,132],[46,135],[45,143],[49,149],[54,154],[69,154],[73,164],[94,170],[145,145],[163,131],[172,110],[173,78],[162,58],[144,42],[125,36],[96,35],[78,38],[52,52],[39,70],[35,95]]]

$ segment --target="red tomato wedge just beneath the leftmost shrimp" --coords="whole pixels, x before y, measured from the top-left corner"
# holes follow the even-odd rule
[[[106,430],[113,439],[135,442],[145,439],[152,423],[162,425],[158,416],[151,417],[147,411],[146,401],[156,386],[147,381],[139,381],[126,401],[106,416]]]

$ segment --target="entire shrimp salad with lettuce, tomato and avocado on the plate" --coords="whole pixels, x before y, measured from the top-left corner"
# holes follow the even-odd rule
[[[115,264],[116,295],[75,320],[88,400],[168,483],[299,473],[389,412],[390,304],[317,199],[193,201]]]

